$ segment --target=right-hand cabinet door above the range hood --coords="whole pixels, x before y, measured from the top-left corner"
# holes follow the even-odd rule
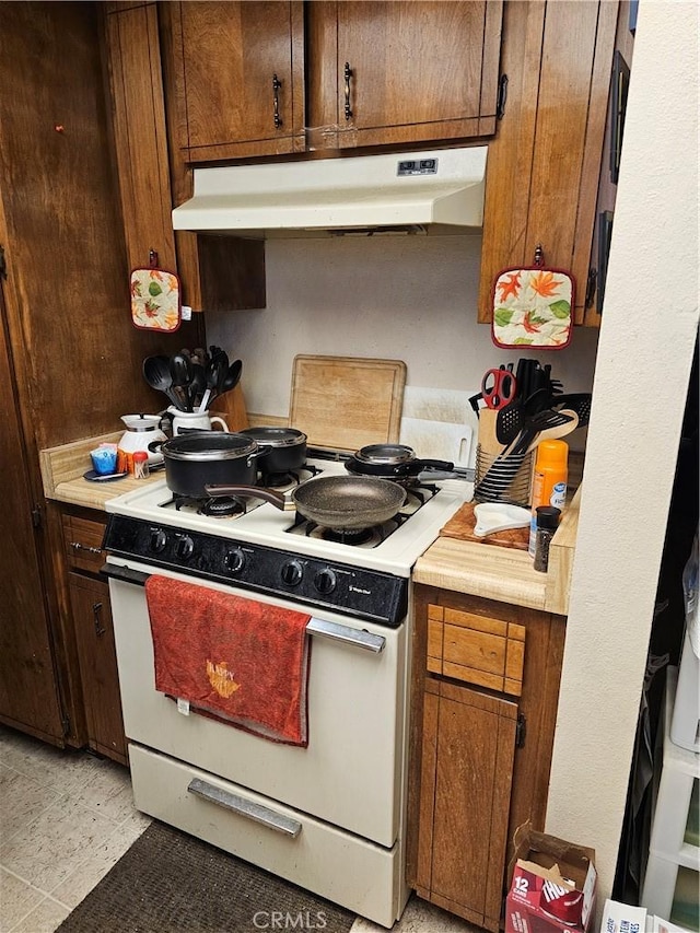
[[[338,3],[340,145],[493,133],[502,5]]]

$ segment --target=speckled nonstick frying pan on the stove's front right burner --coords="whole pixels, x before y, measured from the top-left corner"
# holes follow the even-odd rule
[[[291,501],[275,489],[257,486],[206,486],[208,495],[252,495],[278,509],[296,509],[326,528],[370,528],[392,518],[404,504],[406,490],[388,479],[320,476],[292,490]]]

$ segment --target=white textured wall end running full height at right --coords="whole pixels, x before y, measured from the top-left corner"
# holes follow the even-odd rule
[[[588,428],[548,831],[615,873],[698,327],[698,8],[641,0]]]

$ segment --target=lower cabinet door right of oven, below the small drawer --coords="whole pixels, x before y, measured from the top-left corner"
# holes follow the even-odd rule
[[[517,707],[427,680],[416,888],[499,929]]]

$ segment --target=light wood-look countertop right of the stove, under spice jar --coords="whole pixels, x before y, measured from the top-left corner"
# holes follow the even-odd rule
[[[547,573],[527,551],[440,537],[418,559],[413,582],[565,616],[580,504],[581,487],[552,538]]]

